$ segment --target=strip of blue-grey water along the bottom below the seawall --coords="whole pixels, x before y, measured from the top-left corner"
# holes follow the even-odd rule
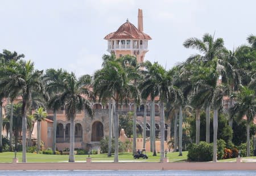
[[[44,176],[44,175],[54,175],[54,176],[82,176],[82,175],[92,175],[92,176],[119,176],[119,175],[133,175],[133,176],[197,176],[197,175],[225,175],[225,176],[236,176],[236,175],[246,175],[246,176],[254,176],[256,175],[255,171],[240,171],[240,170],[225,170],[225,171],[202,171],[202,170],[57,170],[57,171],[0,171],[1,176]]]

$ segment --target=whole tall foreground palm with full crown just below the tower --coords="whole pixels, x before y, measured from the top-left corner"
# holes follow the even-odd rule
[[[114,58],[114,55],[110,56]],[[114,136],[115,136],[115,155],[114,162],[118,162],[118,104],[123,100],[128,100],[134,85],[131,83],[129,72],[122,66],[123,58],[107,59],[102,63],[101,70],[94,74],[93,90],[98,95],[99,101],[113,98],[115,102],[114,110]]]

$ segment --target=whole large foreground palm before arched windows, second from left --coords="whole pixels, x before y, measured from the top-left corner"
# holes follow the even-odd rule
[[[93,106],[89,98],[93,97],[89,85],[91,77],[89,75],[81,76],[77,79],[75,74],[67,74],[60,83],[53,83],[52,86],[63,90],[57,93],[49,100],[50,107],[56,105],[65,105],[65,114],[70,121],[70,146],[69,146],[69,162],[75,162],[74,143],[75,143],[75,118],[78,111],[87,110],[89,115],[93,115]]]

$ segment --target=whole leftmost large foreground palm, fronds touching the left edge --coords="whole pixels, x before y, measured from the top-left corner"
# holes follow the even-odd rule
[[[27,108],[31,103],[32,90],[43,92],[44,86],[40,76],[43,71],[35,70],[31,61],[20,60],[0,69],[0,89],[4,89],[8,95],[20,92],[22,96],[22,162],[26,162],[26,131],[27,131]]]

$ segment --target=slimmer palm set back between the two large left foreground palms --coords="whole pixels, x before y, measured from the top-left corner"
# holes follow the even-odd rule
[[[43,80],[46,82],[46,91],[48,92],[50,97],[60,93],[60,87],[56,87],[55,85],[61,84],[64,80],[65,75],[67,75],[67,71],[63,71],[61,68],[55,70],[54,68],[49,68],[46,70],[46,74],[43,76]],[[56,153],[56,131],[57,131],[57,122],[56,122],[56,111],[61,107],[61,104],[53,104],[53,141],[52,141],[52,151]]]

